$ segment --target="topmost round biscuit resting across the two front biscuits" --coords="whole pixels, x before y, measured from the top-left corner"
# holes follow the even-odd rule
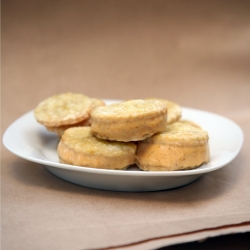
[[[129,100],[91,112],[93,135],[114,141],[139,141],[164,131],[167,105],[159,100]]]

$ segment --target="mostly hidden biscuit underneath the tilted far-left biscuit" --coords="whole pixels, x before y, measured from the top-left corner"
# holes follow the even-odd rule
[[[91,103],[90,103],[90,109],[89,112],[91,112],[94,108],[99,107],[99,106],[104,106],[105,102],[101,99],[97,99],[97,98],[91,98],[90,99]],[[69,125],[63,125],[63,126],[58,126],[58,127],[49,127],[46,126],[47,130],[49,130],[50,132],[54,132],[58,135],[58,137],[61,137],[64,133],[64,131],[68,128],[72,128],[72,127],[83,127],[83,126],[90,126],[92,123],[92,118],[89,114],[89,117],[81,122],[78,123],[74,123],[74,124],[69,124]]]

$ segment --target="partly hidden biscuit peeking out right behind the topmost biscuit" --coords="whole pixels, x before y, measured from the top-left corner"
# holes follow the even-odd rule
[[[178,103],[158,98],[150,98],[149,100],[159,100],[167,105],[168,107],[167,124],[172,124],[180,120],[182,115],[182,110],[181,106]]]

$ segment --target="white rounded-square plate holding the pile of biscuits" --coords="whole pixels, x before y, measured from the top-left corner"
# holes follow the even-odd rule
[[[107,104],[117,102],[105,101]],[[201,125],[210,138],[210,162],[193,170],[144,172],[133,168],[106,170],[61,164],[56,153],[57,136],[38,124],[32,111],[9,126],[3,143],[19,157],[43,164],[57,177],[78,185],[113,191],[164,190],[186,185],[205,173],[222,168],[237,156],[243,143],[241,128],[225,117],[190,108],[182,108],[182,114],[183,119]]]

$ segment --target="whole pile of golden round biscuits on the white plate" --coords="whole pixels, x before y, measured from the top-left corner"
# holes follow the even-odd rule
[[[208,134],[181,120],[174,102],[149,98],[105,105],[81,94],[63,93],[39,103],[36,120],[55,132],[64,164],[145,171],[193,169],[209,161]]]

